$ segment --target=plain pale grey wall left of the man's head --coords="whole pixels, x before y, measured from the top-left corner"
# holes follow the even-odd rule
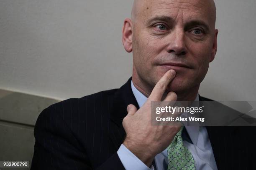
[[[132,2],[0,2],[0,88],[67,99],[120,87],[131,76],[121,28]]]

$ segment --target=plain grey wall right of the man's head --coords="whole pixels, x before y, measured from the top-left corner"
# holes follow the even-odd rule
[[[218,52],[200,87],[215,100],[256,100],[256,0],[215,0]]]

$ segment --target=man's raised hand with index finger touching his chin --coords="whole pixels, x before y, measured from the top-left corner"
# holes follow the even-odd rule
[[[154,157],[172,143],[174,136],[181,128],[178,124],[169,126],[151,125],[151,101],[161,101],[167,86],[175,75],[174,70],[168,70],[156,83],[145,104],[139,110],[134,105],[128,105],[128,115],[123,119],[123,128],[126,132],[123,145],[148,167]],[[164,101],[176,100],[175,92],[168,92],[164,98]]]

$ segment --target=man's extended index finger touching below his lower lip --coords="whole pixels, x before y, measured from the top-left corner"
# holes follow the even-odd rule
[[[166,88],[169,83],[174,79],[176,75],[175,70],[168,70],[163,77],[156,83],[154,89],[151,92],[151,95],[148,97],[150,101],[159,101],[161,100]]]

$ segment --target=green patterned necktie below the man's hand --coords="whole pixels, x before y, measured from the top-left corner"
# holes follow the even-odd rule
[[[182,141],[182,130],[175,135],[167,149],[168,170],[195,170],[195,160]]]

